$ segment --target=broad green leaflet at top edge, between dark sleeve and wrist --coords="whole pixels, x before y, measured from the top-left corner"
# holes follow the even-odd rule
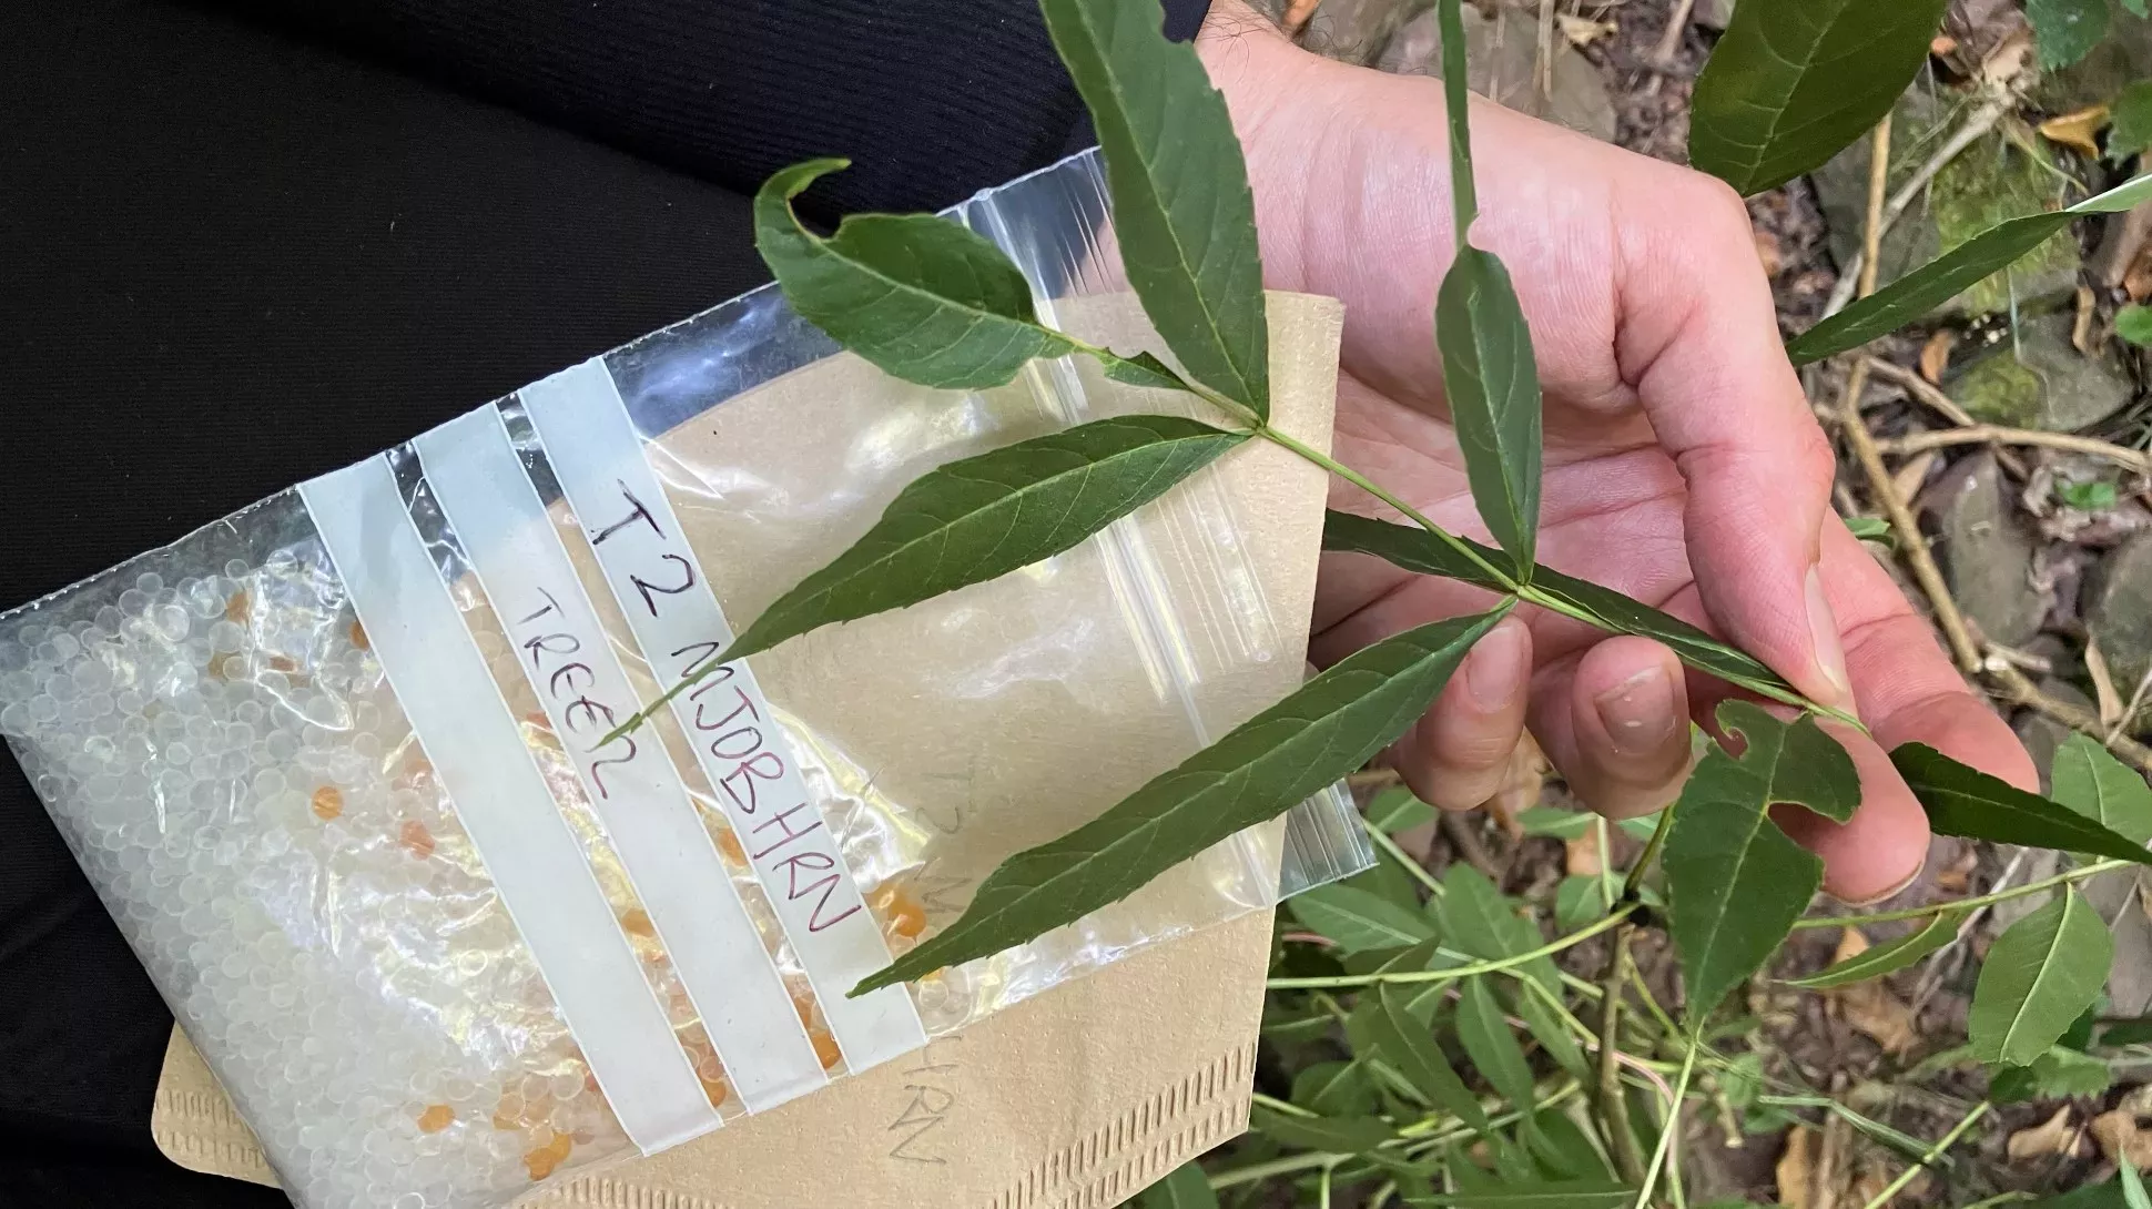
[[[1106,153],[1128,284],[1199,383],[1270,415],[1255,196],[1224,97],[1158,0],[1039,0]]]

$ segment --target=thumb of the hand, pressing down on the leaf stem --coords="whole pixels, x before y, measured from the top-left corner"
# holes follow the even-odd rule
[[[1689,488],[1689,566],[1711,615],[1801,693],[1849,708],[1821,572],[1831,447],[1780,346],[1747,211],[1704,176],[1679,181],[1648,200],[1651,222],[1614,215],[1616,355]],[[1668,204],[1685,222],[1663,222]]]

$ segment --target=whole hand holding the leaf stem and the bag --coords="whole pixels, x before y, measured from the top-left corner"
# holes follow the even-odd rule
[[[1265,284],[1345,301],[1336,458],[1485,538],[1433,344],[1453,254],[1442,84],[1321,60],[1233,0],[1214,4],[1199,52],[1246,148]],[[1782,353],[1741,198],[1476,97],[1472,151],[1472,243],[1509,265],[1545,389],[1539,559],[1707,626],[1864,719],[1874,738],[1838,729],[1861,774],[1853,822],[1780,822],[1823,856],[1831,895],[1898,893],[1926,860],[1928,822],[1889,746],[1928,742],[2023,787],[2036,774],[1831,512],[1831,445]],[[1332,503],[1379,508],[1347,484]],[[1326,555],[1313,656],[1485,604]],[[1724,695],[1661,643],[1521,609],[1392,759],[1420,798],[1472,809],[1530,725],[1584,802],[1629,817],[1674,800],[1685,721]]]

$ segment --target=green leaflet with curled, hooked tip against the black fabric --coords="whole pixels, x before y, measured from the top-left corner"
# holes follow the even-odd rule
[[[848,163],[794,163],[755,194],[755,250],[801,318],[900,379],[949,389],[1001,385],[1076,349],[1037,321],[1024,273],[964,226],[852,215],[829,239],[801,226],[792,198]]]

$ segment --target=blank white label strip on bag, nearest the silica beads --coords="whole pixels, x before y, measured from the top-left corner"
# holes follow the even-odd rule
[[[620,1127],[643,1153],[714,1129],[695,1067],[523,746],[387,458],[306,482],[299,495]]]

